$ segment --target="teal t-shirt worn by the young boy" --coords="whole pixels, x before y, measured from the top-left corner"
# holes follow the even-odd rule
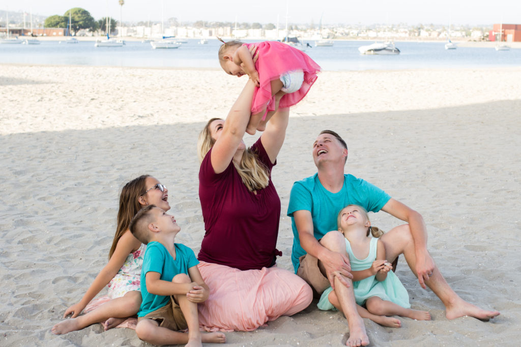
[[[181,243],[175,243],[176,259],[174,260],[170,253],[168,253],[165,246],[161,243],[152,241],[146,246],[146,251],[143,259],[143,267],[141,268],[141,296],[143,301],[138,312],[138,317],[143,317],[150,312],[168,304],[170,297],[164,295],[156,295],[149,293],[146,290],[146,273],[157,272],[161,275],[161,279],[165,281],[172,281],[173,276],[178,274],[187,274],[188,269],[199,264],[199,260],[195,258],[195,254],[187,246]]]

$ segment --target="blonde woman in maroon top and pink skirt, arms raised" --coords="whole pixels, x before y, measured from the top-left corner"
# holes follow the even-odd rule
[[[254,330],[311,303],[311,288],[276,266],[280,199],[271,169],[282,147],[289,109],[279,109],[250,148],[242,137],[255,85],[248,81],[228,117],[210,119],[199,136],[199,197],[205,236],[199,269],[210,288],[199,305],[206,330]]]

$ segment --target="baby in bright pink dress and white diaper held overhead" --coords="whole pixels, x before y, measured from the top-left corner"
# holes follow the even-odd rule
[[[306,96],[320,71],[318,64],[304,52],[285,43],[264,41],[245,44],[224,42],[219,48],[219,62],[226,73],[247,74],[258,87],[252,101],[252,115],[246,132],[264,131],[266,123],[280,108],[296,105]],[[254,62],[250,48],[255,46]]]

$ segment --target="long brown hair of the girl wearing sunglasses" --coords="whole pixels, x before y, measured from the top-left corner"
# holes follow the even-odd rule
[[[112,246],[108,252],[108,259],[110,259],[110,257],[114,254],[119,239],[129,228],[132,217],[141,209],[139,197],[146,190],[146,177],[150,177],[150,175],[142,175],[134,178],[132,181],[123,186],[123,188],[121,188],[121,194],[119,195],[119,210],[116,234],[114,235]]]

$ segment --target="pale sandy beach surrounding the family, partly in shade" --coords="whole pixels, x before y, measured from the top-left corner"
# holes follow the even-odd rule
[[[291,111],[273,171],[278,266],[291,268],[291,186],[316,172],[311,145],[329,128],[348,143],[346,173],[424,216],[452,288],[501,312],[491,322],[446,319],[402,257],[396,274],[432,321],[400,318],[393,329],[366,320],[371,345],[519,344],[519,81],[521,67],[321,73]],[[50,329],[106,264],[130,179],[151,174],[169,188],[177,240],[199,251],[196,137],[206,120],[226,116],[245,82],[217,70],[0,65],[0,344],[148,345],[131,329]],[[383,212],[370,217],[384,230],[400,224]],[[316,301],[256,331],[226,333],[230,346],[340,346],[347,335],[345,318]]]

